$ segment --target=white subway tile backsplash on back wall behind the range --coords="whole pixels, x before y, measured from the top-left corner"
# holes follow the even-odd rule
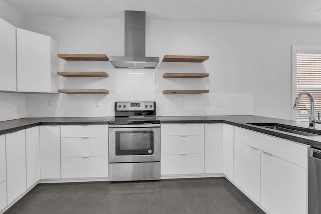
[[[115,101],[156,101],[157,116],[252,115],[252,93],[214,93],[204,79],[165,79],[169,70],[111,69],[109,77],[86,83],[82,88],[106,88],[109,94],[27,94],[27,117],[103,117],[114,116]],[[211,76],[211,74],[210,74]],[[76,79],[64,79],[65,88]],[[209,89],[207,94],[163,94],[165,89]]]

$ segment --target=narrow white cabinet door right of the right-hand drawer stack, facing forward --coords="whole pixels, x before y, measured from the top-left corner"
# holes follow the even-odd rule
[[[205,124],[205,173],[222,173],[223,124]]]

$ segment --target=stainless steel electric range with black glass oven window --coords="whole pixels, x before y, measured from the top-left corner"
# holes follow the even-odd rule
[[[109,121],[109,181],[159,180],[161,123],[155,102],[115,102]]]

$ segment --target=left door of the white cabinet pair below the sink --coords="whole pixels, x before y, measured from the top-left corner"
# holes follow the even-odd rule
[[[261,151],[237,140],[234,141],[234,182],[260,203]]]

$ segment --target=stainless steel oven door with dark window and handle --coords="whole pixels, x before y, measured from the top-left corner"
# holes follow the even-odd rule
[[[109,127],[109,162],[156,162],[161,160],[161,128],[144,125]],[[151,125],[148,125],[151,126]]]

